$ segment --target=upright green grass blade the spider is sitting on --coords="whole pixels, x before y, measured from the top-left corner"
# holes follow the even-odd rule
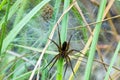
[[[68,8],[70,4],[70,0],[65,0],[64,1],[64,11],[66,10],[66,8]],[[61,29],[61,42],[63,43],[64,41],[66,41],[66,37],[67,37],[67,26],[68,26],[68,16],[69,14],[65,14],[62,20],[62,29]],[[58,64],[57,64],[57,79],[56,80],[62,80],[62,74],[63,74],[63,62],[64,60],[61,58],[58,60]]]

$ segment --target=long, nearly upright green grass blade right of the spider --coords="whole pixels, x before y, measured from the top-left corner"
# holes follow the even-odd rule
[[[107,3],[107,0],[101,0],[97,21],[102,20],[102,16],[103,16],[103,13],[104,13],[106,3]],[[92,69],[92,64],[93,64],[93,59],[94,59],[94,55],[95,55],[95,49],[96,49],[96,44],[97,44],[97,41],[98,41],[100,28],[101,28],[101,23],[96,24],[95,32],[94,32],[94,35],[93,35],[93,41],[92,41],[90,51],[89,51],[87,67],[86,67],[86,70],[85,70],[85,80],[90,80],[90,74],[91,74],[91,69]]]

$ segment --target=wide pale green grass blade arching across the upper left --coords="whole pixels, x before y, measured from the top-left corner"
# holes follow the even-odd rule
[[[33,8],[8,34],[8,36],[3,41],[2,53],[5,52],[8,45],[12,42],[12,40],[16,37],[16,35],[20,32],[20,30],[24,27],[25,24],[50,0],[43,0],[39,3],[35,8]]]

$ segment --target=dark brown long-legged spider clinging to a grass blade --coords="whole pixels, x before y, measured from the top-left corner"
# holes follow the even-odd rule
[[[47,64],[47,66],[44,69],[46,69],[52,63],[52,65],[51,65],[51,67],[49,69],[49,71],[50,71],[52,69],[52,67],[54,66],[54,64],[56,63],[56,61],[58,59],[60,59],[60,58],[63,58],[66,61],[66,67],[65,67],[64,76],[65,76],[65,73],[66,73],[66,70],[67,70],[67,67],[68,67],[69,63],[70,63],[71,70],[72,70],[73,74],[75,75],[73,67],[72,67],[72,63],[71,63],[71,60],[70,60],[70,57],[69,57],[69,54],[71,54],[73,51],[76,51],[76,52],[79,52],[79,51],[75,50],[75,49],[69,50],[69,46],[70,46],[70,41],[71,41],[72,35],[70,36],[68,42],[64,41],[63,44],[62,44],[61,43],[60,32],[59,32],[59,27],[58,27],[58,37],[59,37],[59,44],[57,44],[52,39],[50,39],[50,40],[57,46],[59,53]]]

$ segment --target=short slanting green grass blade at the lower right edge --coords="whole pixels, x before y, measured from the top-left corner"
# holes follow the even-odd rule
[[[113,66],[113,64],[114,64],[114,62],[115,62],[115,60],[116,60],[116,58],[117,58],[117,55],[118,55],[119,51],[120,51],[120,41],[119,41],[118,46],[117,46],[117,48],[116,48],[116,50],[115,50],[115,53],[114,53],[114,55],[113,55],[113,58],[112,58],[112,60],[111,60],[110,66],[109,66],[109,68],[108,68],[108,71],[107,71],[107,73],[106,73],[106,76],[105,76],[105,79],[104,79],[104,80],[108,80],[110,71],[112,70],[112,66]]]

